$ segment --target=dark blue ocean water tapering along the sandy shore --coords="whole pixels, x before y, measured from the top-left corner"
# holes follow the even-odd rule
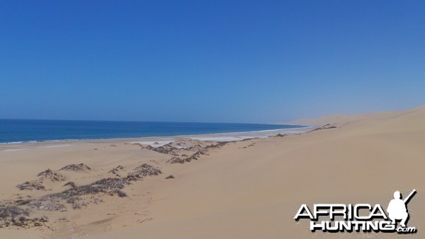
[[[0,144],[294,129],[299,125],[0,119]]]

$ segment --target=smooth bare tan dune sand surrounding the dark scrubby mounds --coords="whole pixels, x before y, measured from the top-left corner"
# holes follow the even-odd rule
[[[16,182],[47,165],[85,163],[96,173],[81,182],[104,177],[104,169],[131,168],[151,162],[163,174],[125,187],[129,197],[59,214],[69,222],[54,231],[34,231],[33,238],[341,238],[397,234],[311,233],[308,221],[294,221],[300,204],[341,203],[387,206],[392,193],[416,188],[409,202],[409,226],[424,228],[425,107],[344,117],[337,127],[267,139],[251,139],[213,148],[188,163],[166,163],[170,156],[138,146],[111,142],[63,148],[1,152],[2,197],[16,193]],[[98,148],[94,151],[93,148]],[[60,157],[60,160],[57,158]],[[31,160],[30,160],[31,159]],[[152,162],[154,160],[154,162]],[[76,162],[77,161],[77,162]],[[20,172],[8,173],[21,168]],[[96,170],[98,168],[98,170]],[[174,175],[174,179],[165,179]],[[8,180],[6,180],[8,177]],[[67,177],[76,177],[67,175]],[[53,215],[52,215],[53,216]],[[60,217],[60,216],[57,216]],[[54,217],[54,216],[53,216]],[[59,226],[58,226],[59,225]],[[13,235],[1,230],[0,236]],[[28,231],[15,234],[30,238]],[[12,234],[11,234],[12,233]],[[38,234],[37,234],[38,233]]]

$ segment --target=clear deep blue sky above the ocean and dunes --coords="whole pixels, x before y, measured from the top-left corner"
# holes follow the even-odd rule
[[[425,103],[425,1],[0,1],[0,118],[284,122]]]

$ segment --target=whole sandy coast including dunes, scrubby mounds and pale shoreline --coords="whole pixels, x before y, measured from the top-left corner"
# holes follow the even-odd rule
[[[413,188],[418,193],[409,202],[409,226],[419,231],[407,237],[421,238],[425,106],[293,123],[329,125],[302,132],[2,144],[0,206],[30,211],[23,226],[2,221],[0,238],[399,238],[312,233],[308,221],[293,217],[300,204],[386,206],[392,192]],[[113,185],[99,190],[94,182],[106,178],[115,179],[102,181]],[[70,193],[84,185],[98,191]],[[72,200],[62,197],[66,190]]]

